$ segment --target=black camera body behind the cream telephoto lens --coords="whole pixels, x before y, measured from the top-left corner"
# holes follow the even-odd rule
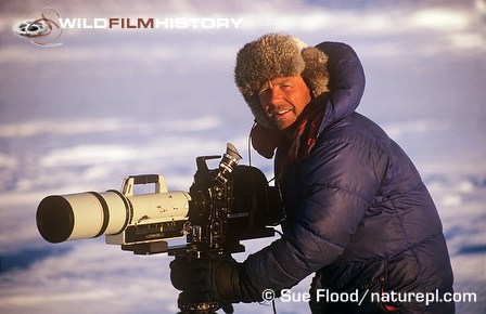
[[[269,186],[265,174],[255,167],[235,166],[226,183],[216,178],[218,170],[208,170],[199,157],[194,183],[189,189],[187,251],[234,253],[244,251],[240,240],[273,236],[272,227],[284,219],[280,195]],[[203,162],[204,161],[204,162]]]

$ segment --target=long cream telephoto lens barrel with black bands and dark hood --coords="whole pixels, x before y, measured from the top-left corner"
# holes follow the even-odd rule
[[[46,240],[53,244],[101,235],[117,238],[111,238],[110,244],[113,240],[125,244],[124,237],[118,239],[118,236],[131,224],[149,225],[148,230],[152,232],[157,223],[186,220],[190,199],[186,192],[125,196],[110,189],[104,193],[51,195],[43,198],[37,208],[37,228]]]

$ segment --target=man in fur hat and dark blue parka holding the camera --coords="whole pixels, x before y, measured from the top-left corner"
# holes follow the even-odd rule
[[[254,302],[315,273],[312,313],[453,313],[452,302],[421,299],[452,292],[440,220],[407,155],[355,112],[364,75],[353,49],[266,35],[240,50],[234,77],[254,147],[274,155],[283,236],[243,263],[176,260],[174,286]]]

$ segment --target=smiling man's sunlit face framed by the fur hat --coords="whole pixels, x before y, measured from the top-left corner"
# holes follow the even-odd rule
[[[294,123],[310,102],[310,91],[300,76],[274,78],[258,91],[260,105],[279,130]]]

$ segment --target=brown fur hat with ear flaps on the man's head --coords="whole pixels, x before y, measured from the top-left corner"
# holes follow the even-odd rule
[[[274,128],[259,103],[258,91],[269,80],[300,75],[314,97],[328,90],[328,56],[290,35],[268,34],[246,43],[236,55],[234,81],[255,120]]]

